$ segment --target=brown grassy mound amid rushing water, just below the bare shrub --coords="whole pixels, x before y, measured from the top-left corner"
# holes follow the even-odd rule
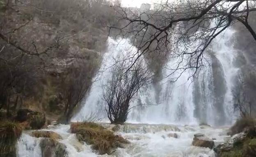
[[[112,131],[94,122],[80,122],[71,124],[71,133],[76,133],[80,141],[92,145],[92,148],[102,154],[110,154],[114,149],[130,143]]]

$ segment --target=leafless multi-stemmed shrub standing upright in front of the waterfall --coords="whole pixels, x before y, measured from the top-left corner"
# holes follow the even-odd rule
[[[119,58],[111,69],[111,76],[103,86],[103,99],[111,123],[123,124],[130,111],[130,102],[151,81],[151,72],[142,59],[127,70],[127,60]]]

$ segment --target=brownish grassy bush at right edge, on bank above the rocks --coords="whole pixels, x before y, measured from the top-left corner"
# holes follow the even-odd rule
[[[256,121],[252,117],[242,117],[241,119],[238,119],[235,124],[230,128],[230,135],[235,135],[237,133],[241,133],[243,131],[247,132],[248,136],[255,136],[256,130],[255,130]]]

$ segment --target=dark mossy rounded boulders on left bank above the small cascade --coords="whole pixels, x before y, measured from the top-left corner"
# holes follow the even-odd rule
[[[32,111],[30,109],[20,109],[17,112],[16,121],[27,122],[27,129],[40,129],[46,123],[46,117],[43,113]]]

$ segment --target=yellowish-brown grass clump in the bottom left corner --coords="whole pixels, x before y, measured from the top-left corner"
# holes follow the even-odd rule
[[[0,122],[0,154],[15,156],[16,142],[21,137],[22,127],[15,122]]]

